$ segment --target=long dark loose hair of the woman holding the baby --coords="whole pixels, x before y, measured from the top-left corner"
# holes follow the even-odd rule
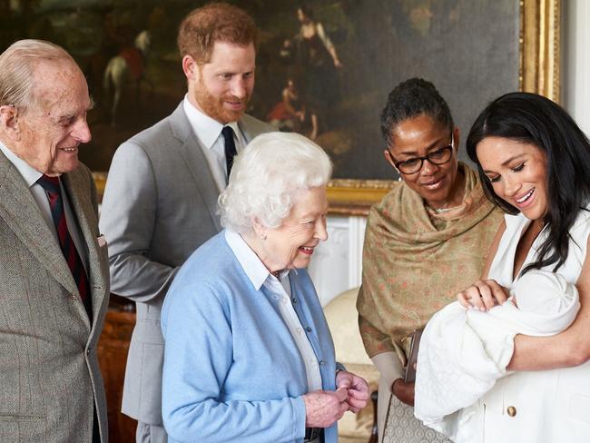
[[[569,230],[580,210],[590,202],[590,143],[565,110],[537,94],[502,95],[479,114],[467,136],[467,154],[477,164],[477,172],[487,197],[505,212],[518,210],[499,198],[477,160],[476,148],[487,137],[502,137],[534,144],[546,153],[548,235],[537,260],[522,271],[549,265],[554,271],[567,258]]]

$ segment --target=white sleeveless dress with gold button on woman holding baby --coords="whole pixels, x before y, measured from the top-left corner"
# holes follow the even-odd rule
[[[489,279],[504,287],[514,285],[516,246],[529,223],[522,214],[506,215],[506,231]],[[581,211],[570,230],[567,260],[557,270],[568,283],[575,283],[582,271],[589,233],[590,212]],[[545,235],[546,231],[539,234],[523,267],[534,261]],[[546,270],[552,271],[552,266]],[[460,432],[474,443],[590,442],[590,362],[575,368],[518,371],[500,379],[478,400],[476,417]]]

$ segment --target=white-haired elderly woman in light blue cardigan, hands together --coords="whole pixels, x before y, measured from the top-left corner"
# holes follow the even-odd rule
[[[339,368],[305,268],[328,238],[329,157],[295,133],[256,137],[219,200],[226,228],[182,266],[162,309],[172,442],[335,443],[369,388]]]

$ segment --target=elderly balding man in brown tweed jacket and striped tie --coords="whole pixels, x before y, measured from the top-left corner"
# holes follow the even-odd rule
[[[0,441],[106,442],[96,357],[108,259],[84,75],[64,49],[21,40],[0,54]]]

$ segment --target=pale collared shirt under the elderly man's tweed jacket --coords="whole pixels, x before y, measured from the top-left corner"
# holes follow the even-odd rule
[[[5,154],[6,158],[13,163],[15,166],[16,171],[18,171],[25,180],[26,185],[29,187],[29,191],[33,194],[34,201],[37,202],[37,206],[39,206],[39,210],[41,210],[41,215],[49,230],[52,231],[54,234],[54,239],[57,245],[59,246],[59,238],[57,237],[57,231],[55,230],[54,219],[51,215],[51,207],[49,206],[49,199],[47,198],[47,193],[45,192],[43,186],[37,183],[37,180],[41,178],[43,175],[42,172],[38,172],[32,166],[30,166],[27,162],[23,159],[18,157],[15,153],[13,153],[10,149],[8,149],[3,143],[0,142],[0,151]],[[88,272],[88,251],[86,249],[86,243],[83,241],[83,235],[78,227],[78,223],[76,222],[76,218],[74,212],[72,212],[70,207],[70,202],[67,197],[67,192],[65,192],[64,184],[60,180],[60,188],[62,190],[62,198],[64,199],[64,212],[65,212],[65,224],[67,225],[67,230],[70,232],[70,236],[72,237],[72,241],[74,241],[74,245],[78,254],[80,255],[80,259],[84,264],[84,269],[86,273]]]

